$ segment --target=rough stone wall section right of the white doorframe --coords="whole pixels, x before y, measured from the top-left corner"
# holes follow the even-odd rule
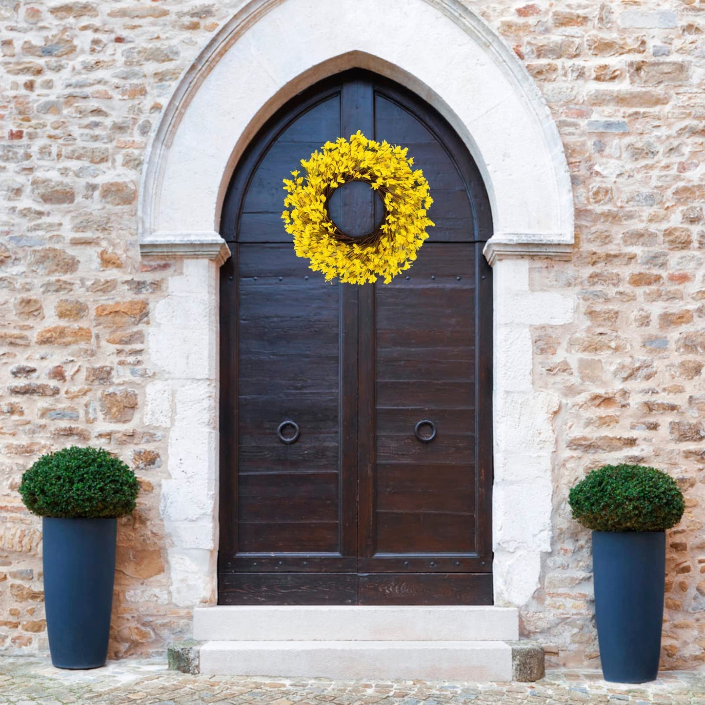
[[[534,329],[534,386],[558,402],[553,551],[523,628],[558,663],[596,663],[589,532],[568,489],[605,462],[667,470],[687,496],[668,532],[663,665],[705,647],[705,2],[493,4],[558,123],[575,194],[572,262],[529,271],[575,300]]]

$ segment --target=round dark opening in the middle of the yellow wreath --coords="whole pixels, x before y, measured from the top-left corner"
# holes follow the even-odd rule
[[[338,186],[326,202],[328,217],[350,238],[372,235],[386,216],[384,202],[367,181],[348,181]]]

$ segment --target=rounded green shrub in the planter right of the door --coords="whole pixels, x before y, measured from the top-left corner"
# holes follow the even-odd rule
[[[593,531],[664,531],[685,501],[673,477],[642,465],[605,465],[570,490],[573,518]]]

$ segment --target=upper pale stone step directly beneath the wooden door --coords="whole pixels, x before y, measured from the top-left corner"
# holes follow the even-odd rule
[[[197,608],[200,641],[486,642],[519,638],[511,607],[214,606]]]

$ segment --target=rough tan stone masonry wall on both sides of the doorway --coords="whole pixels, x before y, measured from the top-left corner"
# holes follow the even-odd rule
[[[575,188],[572,262],[532,288],[574,298],[534,331],[556,396],[553,551],[522,613],[551,661],[596,665],[589,534],[568,488],[618,460],[687,494],[668,535],[663,666],[705,654],[705,0],[470,2],[551,106]],[[111,656],[187,635],[159,513],[163,429],[145,419],[145,331],[178,263],[140,261],[142,157],[180,73],[239,3],[0,0],[0,649],[47,648],[41,522],[16,492],[47,450],[102,445],[142,494],[118,529]],[[283,61],[286,50],[283,49]],[[207,138],[207,135],[204,136]],[[197,146],[195,145],[195,148]]]

